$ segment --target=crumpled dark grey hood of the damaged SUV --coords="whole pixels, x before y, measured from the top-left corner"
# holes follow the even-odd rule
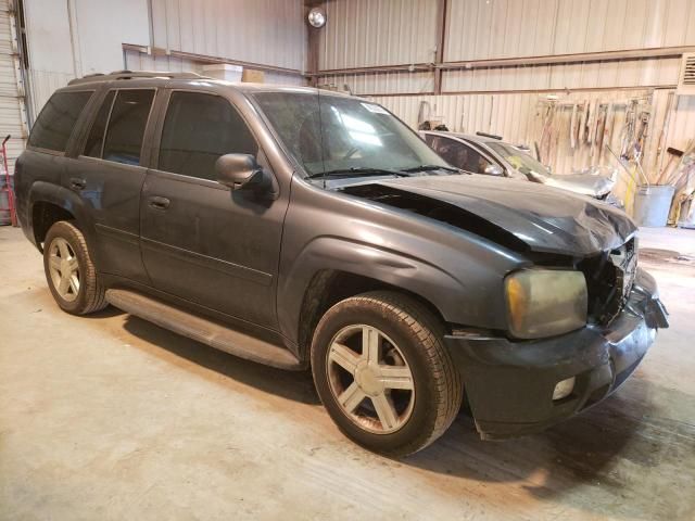
[[[457,206],[510,232],[535,252],[590,256],[620,246],[636,230],[630,217],[612,206],[526,181],[460,175],[375,185]]]

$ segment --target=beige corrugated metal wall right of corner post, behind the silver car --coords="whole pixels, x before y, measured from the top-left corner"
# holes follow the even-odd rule
[[[667,147],[683,150],[695,137],[695,97],[673,96],[681,55],[695,50],[692,0],[328,0],[324,7],[316,82],[372,98],[413,127],[422,110],[451,130],[532,147],[553,103],[557,136],[543,160],[554,171],[617,167],[605,149],[570,148],[572,107],[610,105],[610,142],[619,150],[635,100],[649,107],[642,165],[652,178]]]

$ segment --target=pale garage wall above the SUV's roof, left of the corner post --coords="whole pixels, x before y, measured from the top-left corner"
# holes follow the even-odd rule
[[[23,0],[33,114],[72,78],[128,68],[202,72],[243,63],[302,84],[301,0]]]

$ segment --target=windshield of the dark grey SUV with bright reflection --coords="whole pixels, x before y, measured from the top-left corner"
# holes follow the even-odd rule
[[[313,92],[258,92],[254,98],[308,176],[451,169],[381,105]]]

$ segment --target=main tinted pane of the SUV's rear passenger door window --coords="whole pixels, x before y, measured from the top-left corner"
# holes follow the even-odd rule
[[[152,89],[118,91],[106,128],[104,160],[126,165],[140,164],[142,137],[153,99]]]

